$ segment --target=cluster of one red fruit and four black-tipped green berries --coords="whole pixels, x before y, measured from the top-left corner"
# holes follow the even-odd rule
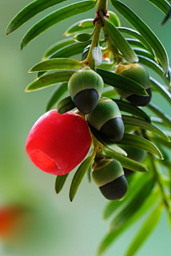
[[[150,79],[145,68],[138,63],[122,62],[115,67],[115,73],[140,83],[149,94],[148,97],[137,96],[116,88],[122,98],[138,106],[146,106],[150,102]],[[86,158],[93,137],[92,178],[105,198],[118,200],[128,190],[125,175],[132,171],[106,155],[92,132],[95,130],[116,143],[123,139],[125,129],[120,109],[113,99],[102,96],[103,88],[103,79],[89,67],[73,73],[68,81],[68,92],[76,112],[60,114],[58,110],[52,110],[41,116],[28,134],[26,152],[33,163],[46,173],[66,175]],[[126,151],[133,149],[128,146]],[[137,152],[130,158],[139,160],[136,155]]]

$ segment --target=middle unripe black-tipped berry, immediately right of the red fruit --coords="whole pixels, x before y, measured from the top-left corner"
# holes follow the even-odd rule
[[[110,98],[100,98],[98,106],[88,114],[88,123],[107,138],[122,140],[123,119],[118,105]]]

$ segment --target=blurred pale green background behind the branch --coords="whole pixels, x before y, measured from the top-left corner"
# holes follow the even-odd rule
[[[104,222],[102,218],[107,202],[98,188],[93,183],[88,183],[85,177],[76,198],[70,203],[68,190],[73,174],[62,192],[56,195],[56,177],[33,166],[25,153],[26,137],[33,123],[44,113],[53,87],[24,93],[24,88],[35,77],[34,74],[27,73],[29,68],[41,60],[48,46],[62,39],[63,32],[73,21],[93,18],[95,9],[89,14],[81,14],[53,26],[20,51],[19,43],[26,30],[49,11],[34,17],[14,34],[6,37],[5,30],[9,21],[29,2],[30,0],[0,0],[0,208],[4,205],[22,205],[28,208],[27,218],[23,220],[21,227],[16,227],[14,236],[0,240],[0,255],[95,256],[98,243],[108,230],[108,222]],[[159,25],[163,14],[147,1],[123,2],[128,2],[150,25],[171,56],[171,24],[167,23],[163,27]],[[51,11],[54,9],[56,6]],[[110,4],[109,9],[114,10]],[[125,21],[121,21],[124,26]],[[157,98],[155,101],[158,101]],[[165,102],[160,101],[160,106],[168,112]],[[139,227],[140,222],[136,222],[105,255],[123,256]],[[170,230],[165,214],[137,255],[171,255]]]

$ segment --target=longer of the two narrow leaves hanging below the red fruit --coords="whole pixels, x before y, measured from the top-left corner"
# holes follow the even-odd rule
[[[78,170],[76,171],[75,175],[73,176],[70,193],[69,193],[69,198],[71,202],[73,201],[73,198],[76,195],[76,192],[78,190],[79,185],[81,184],[81,181],[83,180],[84,175],[86,174],[88,168],[93,162],[94,157],[95,157],[95,153],[92,153],[88,156],[88,158],[86,158],[86,160],[83,160],[81,165],[78,167]]]

